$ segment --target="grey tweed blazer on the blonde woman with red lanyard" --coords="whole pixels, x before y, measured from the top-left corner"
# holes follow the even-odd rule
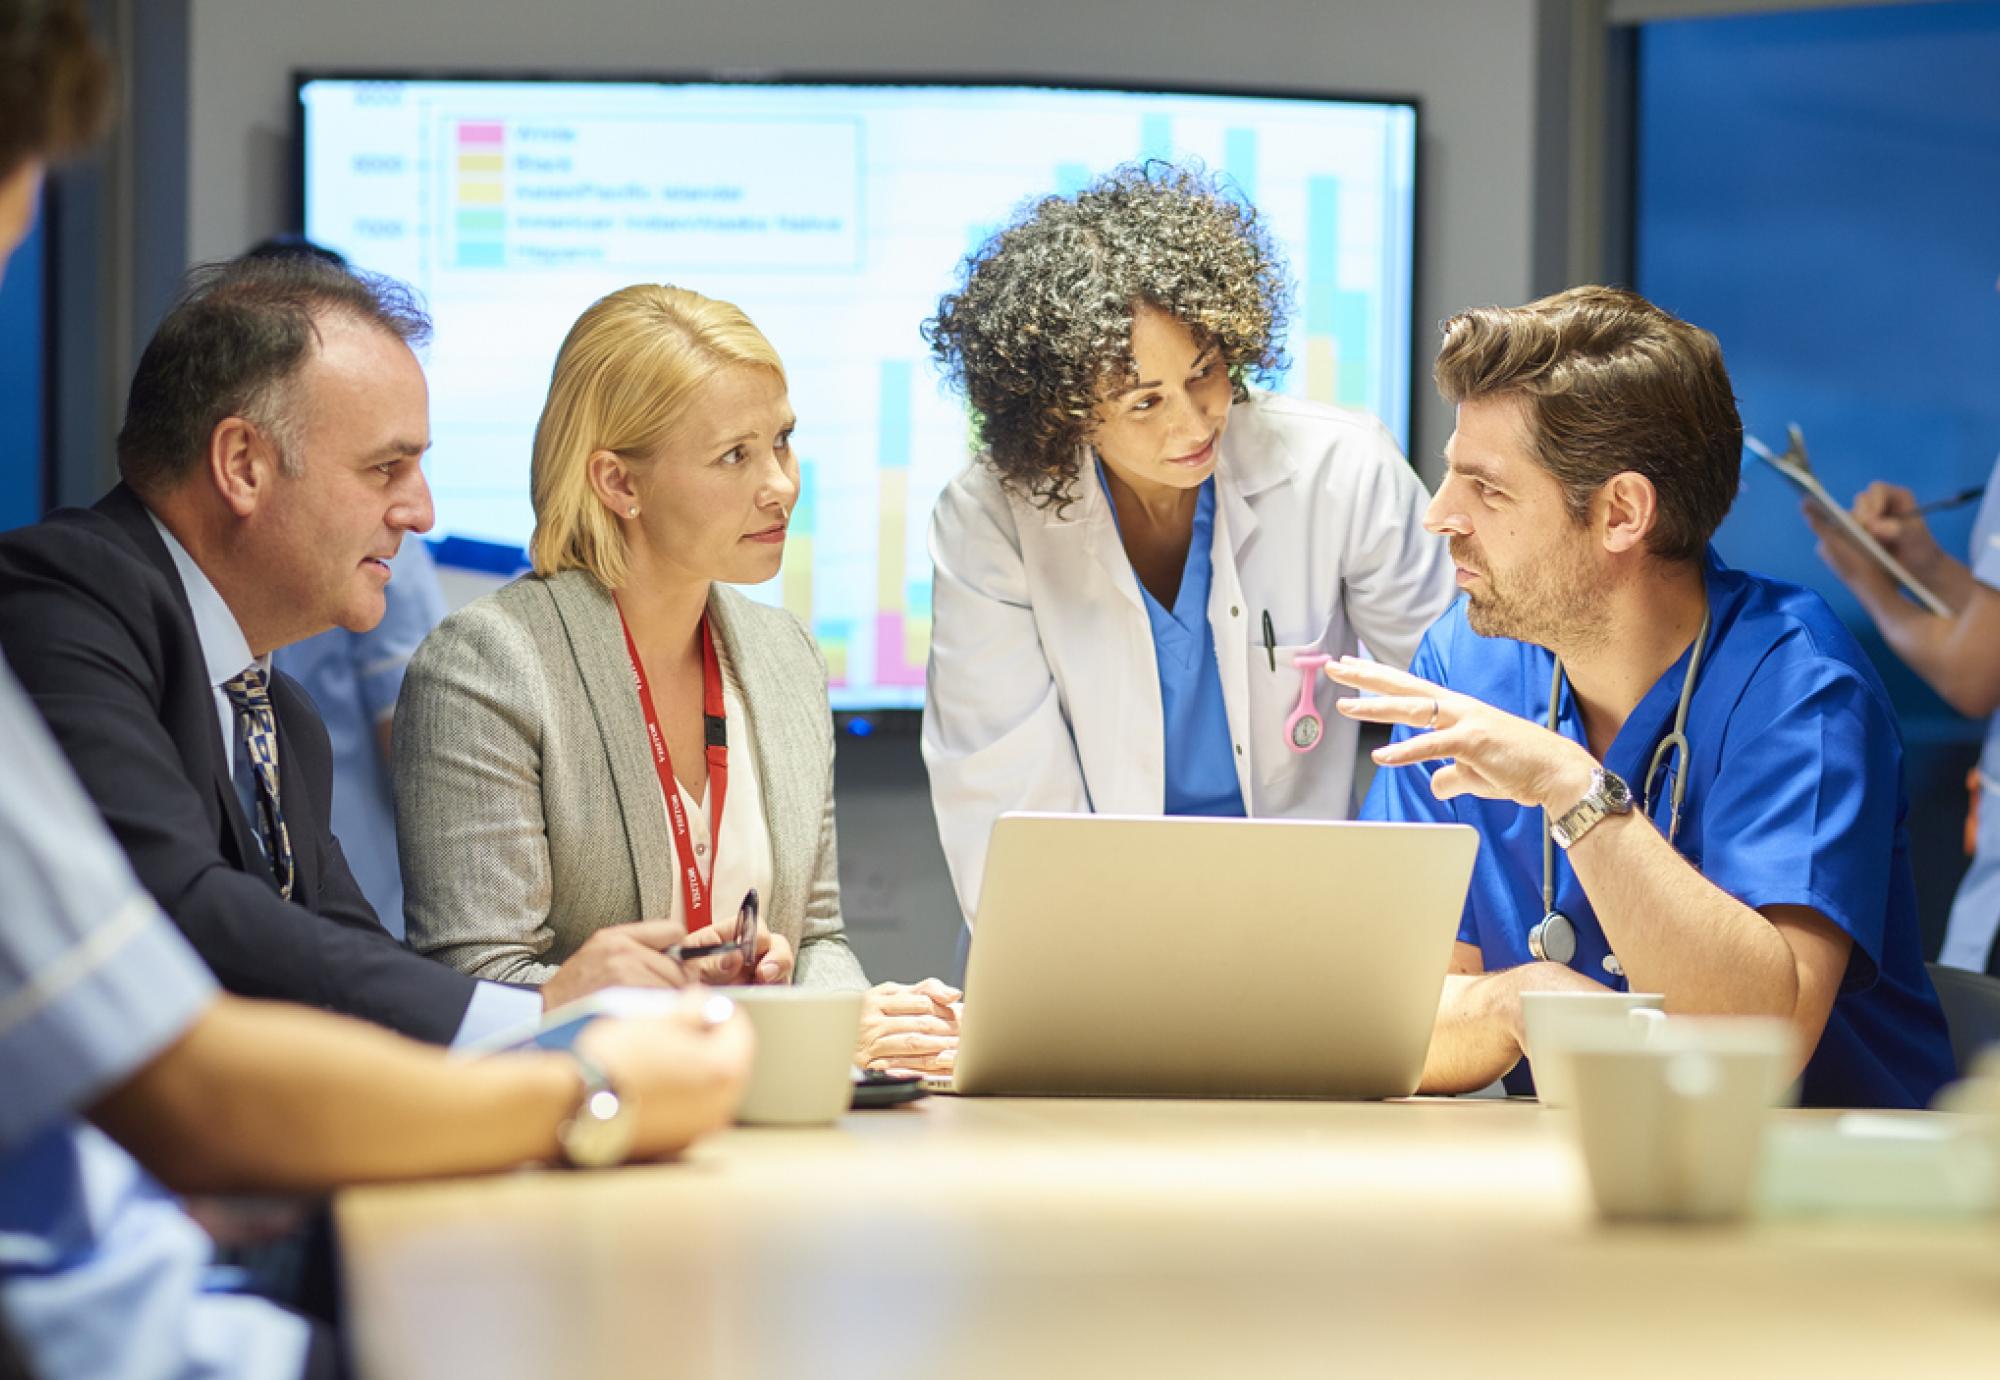
[[[868,980],[840,926],[826,662],[792,614],[724,586],[708,616],[754,720],[770,828],[764,920],[794,982]],[[606,924],[668,914],[674,842],[618,606],[594,576],[522,576],[460,608],[396,702],[396,836],[410,944],[496,982],[546,982]]]

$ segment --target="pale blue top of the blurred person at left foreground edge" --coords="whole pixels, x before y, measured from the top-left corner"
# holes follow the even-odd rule
[[[106,1090],[216,1000],[0,660],[0,1314],[30,1374],[296,1376],[302,1318],[216,1292],[214,1242],[108,1136]]]

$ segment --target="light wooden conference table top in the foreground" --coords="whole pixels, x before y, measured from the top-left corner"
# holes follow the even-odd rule
[[[364,1380],[2000,1374],[2000,1226],[1606,1226],[1532,1102],[932,1098],[338,1214]]]

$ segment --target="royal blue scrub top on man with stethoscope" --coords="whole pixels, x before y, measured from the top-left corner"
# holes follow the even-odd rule
[[[1902,736],[1888,692],[1826,602],[1794,584],[1706,558],[1712,630],[1688,704],[1688,792],[1674,846],[1702,876],[1752,908],[1812,906],[1854,938],[1846,980],[1806,1064],[1808,1106],[1924,1106],[1952,1078],[1944,1012],[1924,972],[1910,872]],[[1604,758],[1634,796],[1674,726],[1688,658],[1666,670]],[[1482,638],[1456,602],[1424,636],[1410,670],[1536,724],[1548,722],[1554,658],[1512,638]],[[1558,728],[1584,742],[1564,690]],[[1398,728],[1396,738],[1412,730]],[[1436,764],[1382,768],[1362,818],[1456,820],[1480,830],[1458,938],[1488,970],[1532,962],[1542,918],[1542,812],[1508,800],[1436,800]],[[1652,816],[1666,832],[1668,780]],[[1572,966],[1612,988],[1610,946],[1576,874],[1556,850],[1556,908],[1576,924]],[[1526,1064],[1508,1088],[1528,1092]]]

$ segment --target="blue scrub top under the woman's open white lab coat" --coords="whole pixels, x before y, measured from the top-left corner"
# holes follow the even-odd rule
[[[1104,462],[1098,482],[1110,498]],[[1112,500],[1112,522],[1118,502]],[[1188,564],[1180,572],[1174,608],[1166,608],[1140,582],[1146,620],[1152,624],[1152,656],[1160,666],[1160,720],[1166,758],[1166,814],[1226,814],[1242,818],[1244,796],[1236,784],[1236,750],[1230,744],[1230,716],[1222,704],[1222,670],[1216,664],[1216,632],[1208,624],[1210,560],[1216,536],[1216,480],[1210,476],[1196,496],[1194,536]]]

